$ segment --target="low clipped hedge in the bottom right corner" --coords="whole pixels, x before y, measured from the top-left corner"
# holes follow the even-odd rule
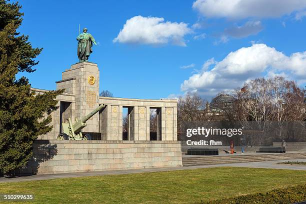
[[[262,204],[262,203],[294,203],[306,200],[306,184],[295,185],[282,189],[273,189],[268,192],[258,192],[249,195],[240,195],[237,197],[223,198],[200,203],[218,203],[218,204]]]

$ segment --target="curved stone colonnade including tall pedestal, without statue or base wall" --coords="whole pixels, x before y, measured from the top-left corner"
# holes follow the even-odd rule
[[[65,91],[57,96],[59,108],[52,112],[53,129],[38,139],[56,139],[61,123],[67,118],[87,115],[99,104],[105,108],[86,121],[83,132],[100,135],[102,140],[122,140],[122,108],[128,109],[128,140],[150,140],[150,108],[157,112],[156,140],[177,140],[176,99],[133,99],[99,96],[99,69],[97,64],[80,62],[62,72],[56,88]],[[32,88],[36,94],[48,90]],[[128,90],[127,90],[128,91]]]

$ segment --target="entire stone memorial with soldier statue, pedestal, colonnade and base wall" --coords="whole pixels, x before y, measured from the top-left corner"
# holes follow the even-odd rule
[[[84,31],[86,30],[84,28]],[[56,88],[65,91],[56,98],[59,108],[52,112],[53,129],[45,135],[40,135],[34,142],[33,158],[21,173],[181,166],[181,146],[180,141],[177,141],[176,99],[99,96],[100,70],[96,63],[87,61],[92,50],[88,53],[88,50],[81,52],[84,47],[91,49],[90,40],[94,39],[90,36],[88,39],[78,36],[80,62],[65,69],[62,79],[56,81]],[[90,44],[86,44],[87,42]],[[32,89],[36,94],[48,91]],[[82,132],[89,133],[93,140],[56,140],[62,132],[61,124],[66,122],[67,118],[72,121],[79,120],[100,104],[105,106],[90,117],[82,129]],[[125,140],[122,136],[122,108],[128,110]],[[156,109],[155,137],[150,136],[150,108]]]

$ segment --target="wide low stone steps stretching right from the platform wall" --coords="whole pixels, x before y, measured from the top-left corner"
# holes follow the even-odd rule
[[[194,166],[306,158],[306,152],[279,154],[183,157],[182,164],[183,166]]]

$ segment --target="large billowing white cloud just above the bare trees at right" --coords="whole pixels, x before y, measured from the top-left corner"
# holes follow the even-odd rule
[[[255,77],[289,75],[297,80],[306,77],[306,51],[287,56],[263,43],[239,48],[219,62],[211,60],[211,64],[215,64],[212,69],[203,68],[184,80],[181,90],[213,96],[217,92],[239,87]]]

